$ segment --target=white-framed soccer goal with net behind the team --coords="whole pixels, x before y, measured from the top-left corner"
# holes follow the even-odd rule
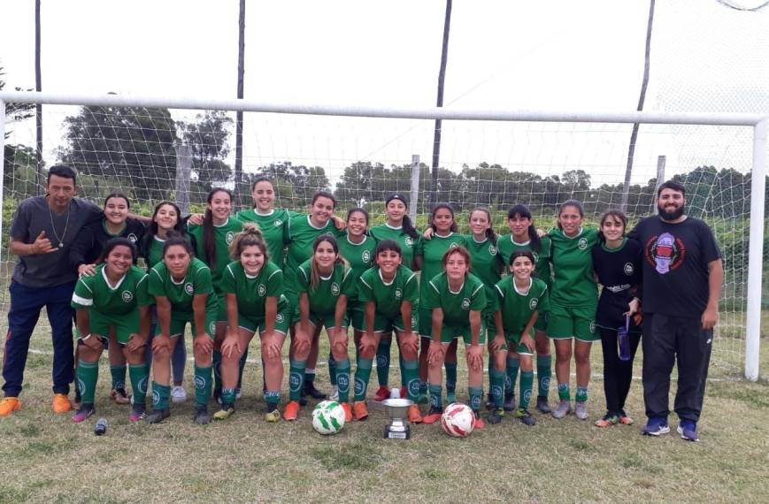
[[[40,157],[34,114],[25,113],[25,104],[43,105]],[[442,121],[437,145],[436,119]],[[465,233],[476,206],[488,207],[504,233],[511,205],[527,204],[546,229],[567,199],[583,202],[593,224],[605,210],[622,208],[632,225],[656,212],[657,184],[678,179],[688,190],[688,215],[711,225],[724,257],[711,365],[756,380],[767,126],[769,116],[758,114],[385,110],[0,93],[0,279],[6,285],[12,271],[13,212],[24,198],[42,194],[46,167],[57,163],[78,170],[81,196],[101,204],[119,190],[144,215],[165,199],[184,211],[203,210],[206,193],[218,186],[233,189],[237,205],[249,207],[251,183],[267,176],[277,189],[276,206],[304,210],[315,191],[327,189],[342,212],[363,206],[376,224],[384,218],[385,195],[401,191],[410,195],[420,229],[431,204],[450,202]],[[238,132],[242,152],[236,152]],[[0,325],[7,325],[7,289],[0,307]]]

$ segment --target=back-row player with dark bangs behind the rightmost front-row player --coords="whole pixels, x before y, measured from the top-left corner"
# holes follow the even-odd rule
[[[550,273],[550,237],[540,237],[534,227],[534,219],[526,205],[515,205],[507,212],[507,225],[510,233],[500,236],[496,241],[504,263],[510,263],[513,252],[530,250],[534,256],[534,275],[541,279],[550,289],[552,275]],[[536,409],[541,413],[550,413],[548,394],[550,377],[552,376],[552,357],[550,356],[550,339],[546,330],[548,327],[548,312],[538,310],[534,323],[534,347],[536,349],[537,398]],[[518,377],[519,361],[513,356],[508,357],[506,364],[507,380],[505,386],[504,407],[507,411],[515,408],[515,382]]]

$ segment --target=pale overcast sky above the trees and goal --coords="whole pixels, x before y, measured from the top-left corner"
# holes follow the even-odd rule
[[[742,1],[742,5],[751,2]],[[757,2],[755,4],[758,4]],[[445,2],[249,0],[244,98],[266,103],[434,106]],[[33,0],[0,2],[7,88],[33,88]],[[457,0],[444,106],[634,111],[647,1]],[[235,98],[238,1],[42,0],[42,89],[61,94]],[[769,112],[769,9],[657,2],[644,110]],[[6,88],[6,89],[7,89]],[[45,107],[45,157],[76,110]],[[189,112],[174,111],[177,118]],[[34,142],[34,124],[12,142]],[[334,179],[357,160],[430,163],[433,123],[246,114],[247,169],[289,159]],[[486,161],[542,175],[584,169],[622,179],[630,126],[444,122],[442,165]],[[232,142],[234,143],[234,141]],[[748,128],[642,126],[634,181],[697,164],[750,168]]]

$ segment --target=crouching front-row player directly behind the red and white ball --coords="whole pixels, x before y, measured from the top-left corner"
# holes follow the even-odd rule
[[[443,254],[443,272],[427,281],[429,290],[422,297],[432,310],[433,339],[427,355],[430,372],[430,413],[425,424],[441,419],[441,370],[450,344],[461,337],[467,355],[467,392],[475,413],[475,428],[482,429],[483,344],[486,330],[481,312],[486,309],[483,282],[470,273],[470,254],[464,247],[450,248]]]

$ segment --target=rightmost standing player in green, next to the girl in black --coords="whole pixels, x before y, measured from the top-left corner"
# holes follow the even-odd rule
[[[596,332],[598,286],[593,278],[592,256],[598,232],[582,228],[584,218],[581,202],[564,202],[558,210],[558,229],[548,233],[554,273],[548,336],[556,344],[559,399],[558,408],[553,411],[555,418],[563,418],[572,411],[569,374],[573,347],[577,369],[574,414],[581,420],[588,419],[590,348],[599,338]]]

